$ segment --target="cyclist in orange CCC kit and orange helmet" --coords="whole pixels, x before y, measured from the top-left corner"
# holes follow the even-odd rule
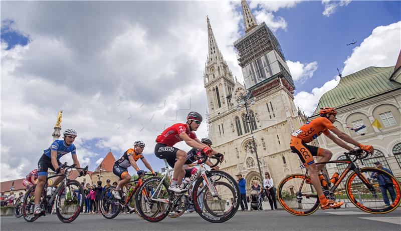
[[[333,123],[335,122],[335,117],[337,115],[337,111],[334,108],[321,108],[319,114],[319,118],[311,120],[310,122],[302,125],[299,130],[291,133],[290,148],[293,152],[298,154],[303,165],[308,168],[310,180],[319,196],[321,208],[337,208],[344,202],[336,202],[326,198],[321,188],[318,175],[319,171],[324,167],[324,164],[319,164],[319,166],[317,166],[315,164],[315,160],[313,159],[313,156],[321,156],[322,158],[320,161],[326,162],[330,160],[333,154],[327,149],[308,145],[307,143],[310,143],[323,133],[338,146],[347,150],[353,150],[353,148],[345,142],[358,146],[362,150],[365,150],[369,153],[373,153],[373,146],[363,145],[352,139],[349,135],[338,130],[338,128],[334,127]],[[331,134],[329,130],[336,134],[338,138]]]

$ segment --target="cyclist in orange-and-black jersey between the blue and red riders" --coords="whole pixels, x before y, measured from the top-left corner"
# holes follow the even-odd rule
[[[152,172],[152,174],[157,176],[157,173],[153,171],[152,166],[150,166],[149,162],[147,162],[142,154],[144,148],[144,142],[139,140],[135,141],[134,148],[126,150],[124,154],[118,160],[116,160],[116,162],[114,162],[113,173],[120,177],[120,182],[118,182],[117,187],[112,192],[115,198],[119,200],[121,199],[119,193],[120,189],[131,180],[131,176],[127,170],[129,166],[134,167],[138,176],[142,176],[144,174],[144,171],[140,170],[136,164],[138,159],[141,159],[143,164]]]

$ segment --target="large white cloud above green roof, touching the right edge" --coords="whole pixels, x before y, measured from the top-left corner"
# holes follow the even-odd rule
[[[394,66],[401,50],[401,21],[373,29],[360,46],[352,50],[345,60],[342,75],[346,76],[364,68]]]

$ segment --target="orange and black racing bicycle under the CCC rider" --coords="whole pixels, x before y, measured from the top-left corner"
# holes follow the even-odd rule
[[[364,167],[359,168],[356,160],[366,158],[368,153],[356,149],[345,152],[345,159],[333,160],[327,162],[318,162],[316,164],[326,163],[347,163],[348,166],[340,174],[338,180],[331,186],[330,181],[322,186],[323,192],[328,199],[342,199],[345,202],[351,202],[355,207],[369,213],[383,214],[393,211],[401,202],[399,182],[388,172],[379,168]],[[362,162],[363,164],[363,162]],[[349,176],[344,184],[341,181],[346,174]],[[381,175],[386,178],[386,183],[392,185],[395,198],[392,198],[391,204],[385,204],[379,184],[375,176]],[[337,191],[336,191],[337,189]],[[344,192],[346,196],[344,195]],[[386,191],[383,193],[387,193]],[[320,205],[319,198],[313,188],[308,170],[305,174],[292,174],[285,177],[277,188],[277,195],[281,206],[291,214],[305,216],[315,212]]]

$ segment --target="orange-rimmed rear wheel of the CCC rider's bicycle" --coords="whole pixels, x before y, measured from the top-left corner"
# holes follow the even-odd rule
[[[281,206],[289,213],[305,216],[319,208],[319,198],[312,184],[305,182],[304,174],[292,174],[279,184],[278,199]],[[307,179],[310,182],[309,176]]]

